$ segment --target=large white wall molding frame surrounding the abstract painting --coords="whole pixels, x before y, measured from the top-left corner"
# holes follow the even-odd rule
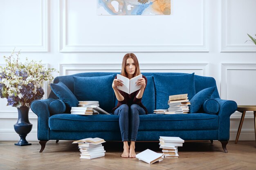
[[[59,1],[59,48],[60,52],[208,52],[209,51],[209,35],[208,35],[208,0],[201,0],[201,25],[202,38],[200,43],[195,44],[170,44],[170,45],[67,45],[67,3],[66,0]],[[115,16],[113,16],[115,17]],[[118,43],[117,43],[118,44]]]

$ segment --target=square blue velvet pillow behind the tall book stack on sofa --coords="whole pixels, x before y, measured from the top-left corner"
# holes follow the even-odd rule
[[[168,109],[170,95],[188,94],[189,99],[195,95],[194,73],[184,75],[153,74],[156,93],[156,109]]]

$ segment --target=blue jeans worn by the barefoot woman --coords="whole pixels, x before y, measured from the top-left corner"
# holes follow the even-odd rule
[[[139,129],[139,115],[145,114],[145,110],[137,104],[132,104],[130,106],[130,111],[127,104],[122,104],[115,110],[114,115],[119,115],[119,127],[121,130],[122,141],[128,141],[129,123],[131,135],[130,141],[136,141]]]

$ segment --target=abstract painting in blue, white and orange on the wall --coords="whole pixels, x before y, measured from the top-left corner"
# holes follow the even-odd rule
[[[98,0],[98,15],[171,15],[171,0]]]

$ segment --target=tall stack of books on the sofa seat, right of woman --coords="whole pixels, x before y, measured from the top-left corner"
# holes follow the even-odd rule
[[[188,94],[171,95],[168,100],[169,108],[165,114],[189,113],[189,104]]]

